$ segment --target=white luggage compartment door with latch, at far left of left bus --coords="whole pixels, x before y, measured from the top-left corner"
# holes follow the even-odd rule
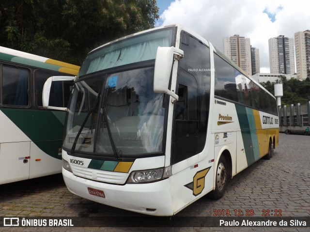
[[[29,179],[30,142],[0,144],[0,184]]]

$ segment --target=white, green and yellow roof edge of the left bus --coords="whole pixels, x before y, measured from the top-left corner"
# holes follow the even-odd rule
[[[0,46],[0,60],[78,75],[79,66]]]

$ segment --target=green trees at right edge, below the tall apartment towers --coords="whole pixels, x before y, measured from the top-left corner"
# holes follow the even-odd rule
[[[305,80],[298,80],[291,78],[286,79],[285,76],[280,76],[283,84],[283,97],[281,98],[282,105],[290,104],[306,104],[310,101],[310,78]],[[274,94],[274,82],[262,82],[260,83],[270,93]]]

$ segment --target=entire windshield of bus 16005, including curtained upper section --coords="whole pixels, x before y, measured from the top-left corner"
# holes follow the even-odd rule
[[[175,28],[150,31],[88,55],[68,108],[66,151],[118,159],[163,153],[164,94],[154,93],[149,61],[158,46],[174,46],[174,37]]]

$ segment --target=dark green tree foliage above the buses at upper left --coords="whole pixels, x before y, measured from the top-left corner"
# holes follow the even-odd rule
[[[156,0],[1,0],[0,45],[80,65],[93,48],[158,18]]]

